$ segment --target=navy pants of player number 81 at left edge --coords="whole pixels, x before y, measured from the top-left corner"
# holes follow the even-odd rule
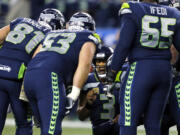
[[[19,100],[21,81],[0,78],[0,135],[5,124],[8,105],[12,107],[17,129],[16,135],[32,135],[31,116],[28,115],[27,103]]]

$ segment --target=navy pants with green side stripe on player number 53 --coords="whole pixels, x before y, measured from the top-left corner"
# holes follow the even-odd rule
[[[61,135],[66,93],[61,77],[51,71],[33,69],[24,77],[24,90],[40,122],[41,135]]]

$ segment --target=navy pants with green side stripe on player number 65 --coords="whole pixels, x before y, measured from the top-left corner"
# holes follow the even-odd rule
[[[171,79],[169,61],[141,60],[130,65],[120,91],[119,124],[124,128],[120,128],[120,135],[136,135],[136,127],[143,114],[147,135],[160,135],[160,120]],[[128,127],[134,131],[130,133]]]

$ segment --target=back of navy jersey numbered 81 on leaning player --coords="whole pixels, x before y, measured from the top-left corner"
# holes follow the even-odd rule
[[[32,19],[17,18],[10,23],[0,56],[28,63],[49,30]]]

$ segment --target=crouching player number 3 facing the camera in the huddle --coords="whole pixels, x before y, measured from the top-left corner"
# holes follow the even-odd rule
[[[90,118],[93,135],[119,135],[119,89],[110,93],[106,80],[107,60],[112,53],[112,48],[102,46],[94,56],[94,72],[89,74],[80,95],[78,116],[80,120]]]

